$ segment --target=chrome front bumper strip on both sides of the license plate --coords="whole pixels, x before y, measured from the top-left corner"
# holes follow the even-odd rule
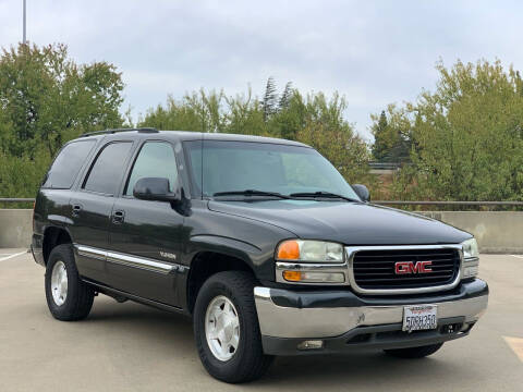
[[[333,338],[361,326],[399,323],[409,305],[333,308],[293,308],[276,305],[270,289],[254,287],[254,299],[263,335],[275,338]],[[470,299],[427,304],[438,306],[438,319],[465,317],[476,321],[487,308],[488,295]]]

